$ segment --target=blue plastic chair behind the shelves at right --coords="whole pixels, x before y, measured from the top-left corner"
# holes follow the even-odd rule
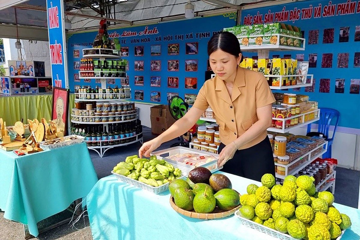
[[[318,121],[318,132],[323,133],[327,137],[328,150],[323,154],[323,158],[331,158],[331,145],[334,141],[336,128],[339,123],[340,113],[332,108],[320,108],[320,120]],[[333,136],[329,137],[330,122],[335,121]],[[311,132],[311,124],[307,125],[307,133]]]

